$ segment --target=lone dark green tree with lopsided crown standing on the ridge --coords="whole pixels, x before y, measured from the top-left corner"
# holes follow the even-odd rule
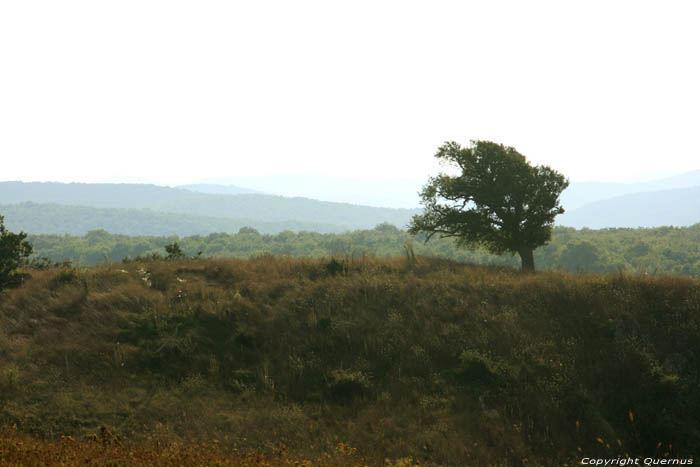
[[[443,144],[435,154],[461,174],[431,177],[421,192],[423,214],[409,232],[456,237],[462,246],[491,253],[518,253],[522,270],[535,270],[533,251],[552,236],[554,217],[564,212],[559,195],[569,181],[547,166],[531,166],[514,148],[490,141],[462,147]]]

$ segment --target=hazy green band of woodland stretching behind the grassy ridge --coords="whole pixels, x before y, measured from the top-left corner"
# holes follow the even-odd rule
[[[206,236],[126,236],[104,230],[85,236],[30,235],[35,258],[91,265],[124,258],[164,255],[164,246],[178,242],[187,256],[247,258],[259,255],[328,257],[395,257],[412,249],[416,255],[450,258],[461,262],[518,267],[517,257],[494,256],[483,250],[455,246],[453,239],[412,236],[391,224],[343,234],[284,231],[261,234],[244,227],[237,234]],[[535,251],[538,269],[570,272],[629,271],[647,274],[682,274],[700,277],[700,224],[691,227],[651,229],[554,229],[552,241]]]

